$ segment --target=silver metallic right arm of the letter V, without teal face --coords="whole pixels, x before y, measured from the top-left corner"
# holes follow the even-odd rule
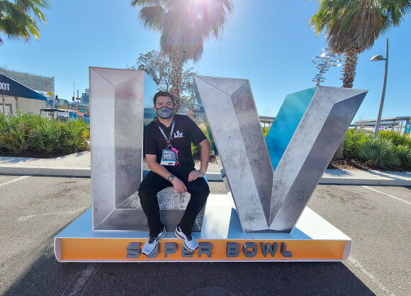
[[[365,95],[317,87],[274,173],[270,229],[293,229]]]

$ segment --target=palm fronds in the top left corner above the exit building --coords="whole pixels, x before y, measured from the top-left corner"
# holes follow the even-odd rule
[[[11,40],[30,40],[30,36],[40,37],[40,22],[46,23],[41,9],[49,9],[47,0],[7,0],[0,1],[0,33]],[[30,15],[33,15],[30,16]],[[3,40],[0,37],[0,45]]]

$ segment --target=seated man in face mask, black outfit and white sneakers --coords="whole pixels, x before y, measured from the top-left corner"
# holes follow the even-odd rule
[[[188,116],[174,114],[174,99],[169,92],[157,92],[153,101],[157,117],[146,126],[144,132],[145,159],[151,171],[138,189],[150,229],[150,237],[142,253],[154,253],[159,240],[166,234],[160,220],[157,193],[171,186],[179,193],[191,194],[175,235],[183,241],[188,251],[195,251],[198,243],[193,239],[191,229],[210,194],[203,178],[207,172],[210,144],[194,121]],[[201,146],[200,170],[194,168],[191,143]]]

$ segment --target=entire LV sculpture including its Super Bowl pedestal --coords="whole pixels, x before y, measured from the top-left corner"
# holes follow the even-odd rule
[[[91,210],[56,236],[58,261],[341,261],[349,256],[351,239],[305,206],[366,91],[313,87],[290,94],[264,138],[248,80],[195,77],[235,205],[227,194],[210,194],[193,227],[198,251],[186,253],[173,231],[189,194],[172,188],[159,192],[167,234],[155,256],[144,256],[148,228],[137,190],[145,173],[143,128],[155,115],[157,85],[142,71],[90,67],[89,74]]]

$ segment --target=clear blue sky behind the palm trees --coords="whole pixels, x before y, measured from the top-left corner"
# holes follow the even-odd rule
[[[286,94],[314,86],[312,62],[325,48],[308,21],[316,1],[235,0],[220,40],[208,40],[201,60],[192,65],[199,75],[249,79],[260,115],[276,116]],[[56,94],[71,99],[89,85],[89,66],[124,68],[140,53],[159,49],[159,33],[142,28],[129,0],[52,1],[45,11],[47,26],[40,40],[5,40],[0,65],[55,77]],[[369,89],[357,119],[375,119],[381,99],[384,62],[389,38],[388,82],[383,117],[411,116],[411,19],[383,35],[359,55],[354,88]],[[342,67],[332,68],[322,85],[341,87]]]

